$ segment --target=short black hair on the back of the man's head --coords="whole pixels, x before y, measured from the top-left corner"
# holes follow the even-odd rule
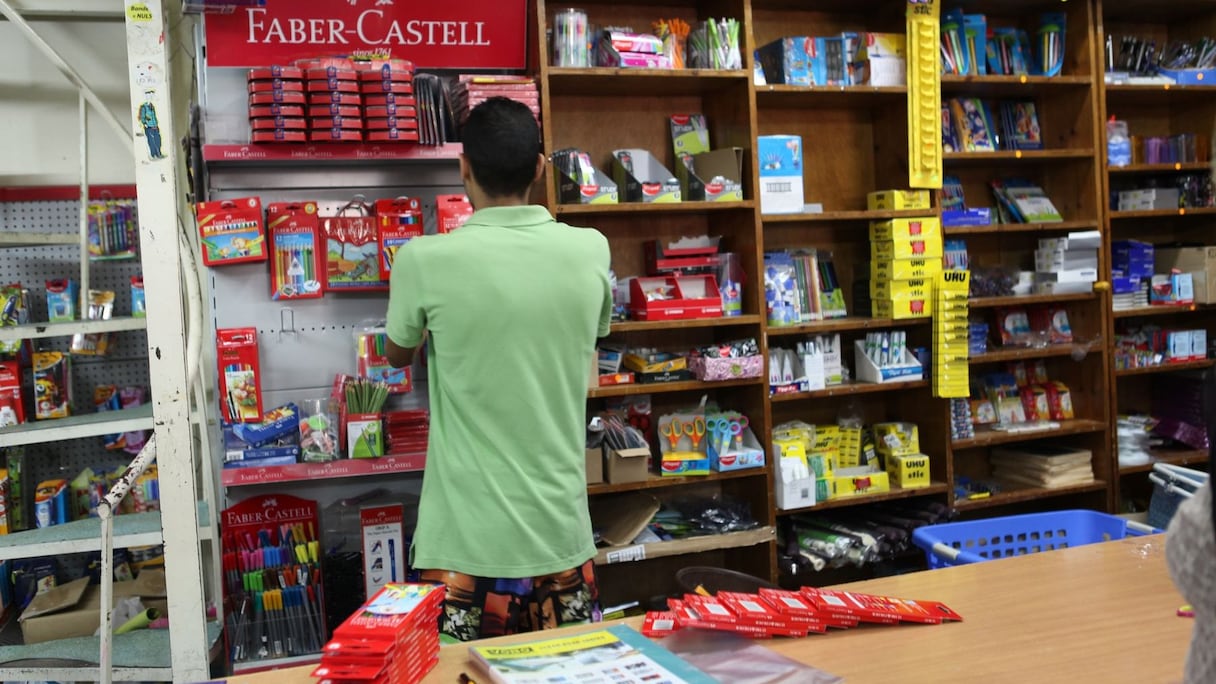
[[[461,131],[473,179],[492,197],[518,197],[536,175],[540,127],[527,105],[490,97],[468,113]]]

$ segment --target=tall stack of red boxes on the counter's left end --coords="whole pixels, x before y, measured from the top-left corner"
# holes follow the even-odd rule
[[[439,661],[444,587],[387,584],[333,630],[313,677],[347,684],[412,684]]]

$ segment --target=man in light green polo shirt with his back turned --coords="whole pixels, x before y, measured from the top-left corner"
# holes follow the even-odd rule
[[[584,430],[608,333],[608,241],[528,203],[545,172],[531,111],[477,106],[460,168],[475,212],[393,263],[388,358],[427,340],[430,441],[411,548],[447,585],[443,633],[477,639],[592,619]]]

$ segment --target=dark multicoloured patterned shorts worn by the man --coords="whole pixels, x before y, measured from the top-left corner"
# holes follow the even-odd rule
[[[447,588],[439,635],[449,644],[599,621],[592,561],[523,579],[473,577],[444,570],[423,570],[421,579]]]

